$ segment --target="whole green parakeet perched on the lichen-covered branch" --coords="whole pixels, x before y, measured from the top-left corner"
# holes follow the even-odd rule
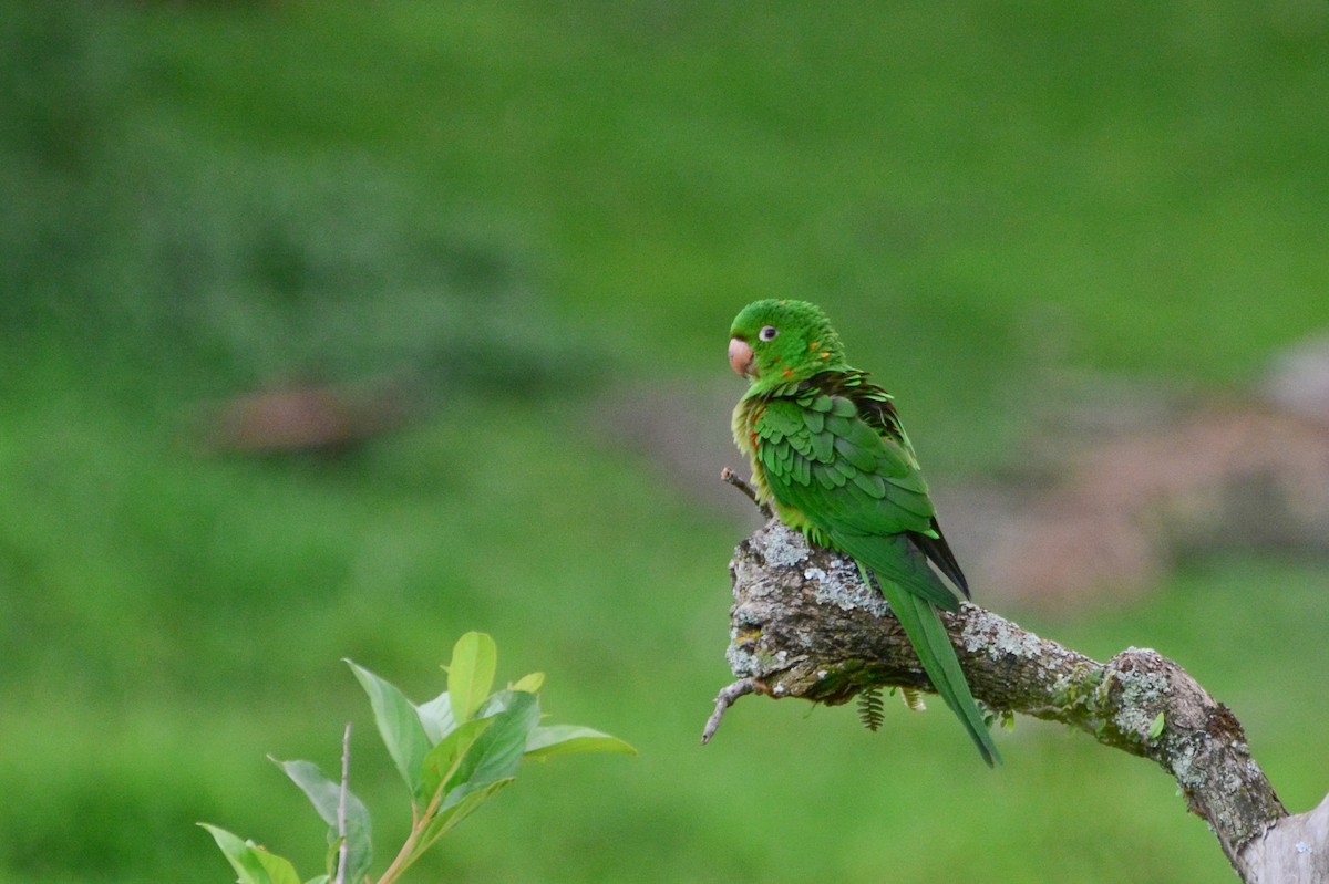
[[[983,761],[999,762],[937,613],[957,611],[960,599],[928,563],[966,597],[969,585],[890,396],[849,368],[825,313],[807,301],[743,308],[730,329],[730,365],[751,381],[734,409],[734,442],[752,462],[758,498],[809,542],[857,563]]]

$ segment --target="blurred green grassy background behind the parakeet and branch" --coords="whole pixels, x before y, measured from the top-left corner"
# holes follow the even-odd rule
[[[938,487],[1009,469],[1050,372],[1255,382],[1329,324],[1326,37],[1318,0],[4,1],[0,880],[226,880],[199,819],[312,873],[264,754],[331,770],[352,718],[400,804],[338,661],[421,700],[468,629],[642,757],[537,767],[423,880],[1225,875],[1166,776],[1037,722],[995,774],[936,713],[748,701],[700,749],[754,519],[606,413],[736,398],[762,296],[839,319]],[[229,450],[218,404],[302,385],[391,407]],[[1324,564],[1155,589],[1003,613],[1177,658],[1316,803]]]

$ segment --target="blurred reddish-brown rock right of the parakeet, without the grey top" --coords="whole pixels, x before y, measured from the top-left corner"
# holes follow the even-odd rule
[[[985,595],[1124,600],[1184,555],[1329,552],[1329,425],[1261,402],[1197,407],[1086,445],[1051,486],[1006,498],[965,516],[995,527],[974,531]]]

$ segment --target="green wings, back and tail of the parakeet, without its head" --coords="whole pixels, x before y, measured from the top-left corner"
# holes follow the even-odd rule
[[[763,397],[751,415],[754,467],[781,518],[859,563],[983,761],[1001,761],[937,613],[960,599],[929,559],[965,595],[968,585],[890,397],[863,373],[828,372]]]

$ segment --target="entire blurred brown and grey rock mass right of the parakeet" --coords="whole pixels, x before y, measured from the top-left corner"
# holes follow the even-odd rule
[[[1329,338],[1277,356],[1237,400],[1112,392],[1108,405],[1086,386],[1035,438],[1042,477],[944,510],[978,542],[985,596],[1126,600],[1185,556],[1329,553]]]

